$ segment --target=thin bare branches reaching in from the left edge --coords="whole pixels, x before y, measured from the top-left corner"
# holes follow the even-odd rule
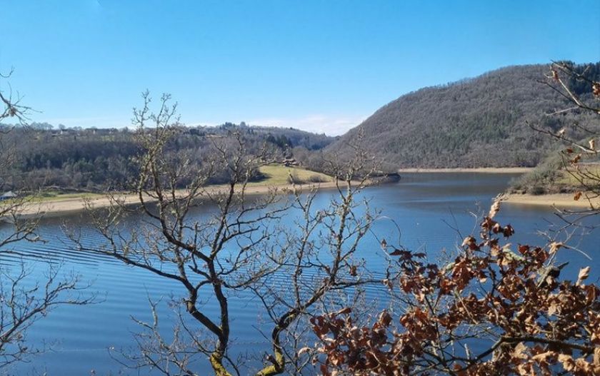
[[[0,79],[8,76],[0,76]],[[3,125],[2,121],[25,126],[30,109],[19,104],[20,97],[15,97],[12,92],[0,91],[0,103],[1,193],[15,161],[14,149],[5,140],[12,126]],[[36,235],[39,216],[23,215],[29,200],[17,196],[0,201],[0,256],[9,255],[19,260],[16,266],[0,265],[0,369],[44,350],[26,342],[26,331],[51,309],[57,305],[87,304],[93,300],[79,295],[82,287],[77,276],[61,275],[58,268],[50,268],[41,282],[31,280],[31,268],[22,259],[24,255],[11,248],[17,242],[39,241]]]

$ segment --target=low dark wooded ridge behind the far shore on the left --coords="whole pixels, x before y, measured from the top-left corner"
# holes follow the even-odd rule
[[[121,189],[138,173],[135,158],[140,148],[136,131],[54,127],[48,123],[0,127],[4,133],[3,147],[10,148],[12,158],[10,171],[0,176],[5,190],[44,187],[91,191]],[[166,151],[202,163],[214,152],[215,142],[231,141],[234,134],[244,138],[250,153],[259,153],[266,148],[269,158],[274,161],[290,158],[294,150],[311,153],[334,141],[329,136],[293,128],[224,123],[218,127],[181,126],[174,130]],[[226,180],[226,171],[221,171],[220,175],[217,174],[211,183]],[[260,178],[258,171],[256,178]]]

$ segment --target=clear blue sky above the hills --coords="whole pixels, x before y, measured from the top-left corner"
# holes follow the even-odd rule
[[[66,126],[130,126],[148,88],[190,125],[337,135],[423,86],[600,61],[598,0],[0,3],[0,71],[32,120]]]

